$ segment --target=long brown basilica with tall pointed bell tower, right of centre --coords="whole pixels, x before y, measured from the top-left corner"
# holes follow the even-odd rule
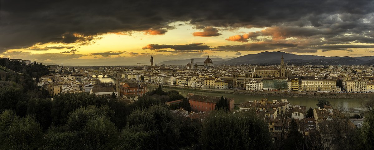
[[[280,68],[257,68],[253,69],[252,78],[291,77],[291,72],[285,68],[283,56]]]

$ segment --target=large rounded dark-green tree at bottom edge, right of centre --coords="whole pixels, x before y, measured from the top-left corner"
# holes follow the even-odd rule
[[[200,143],[206,150],[272,149],[273,146],[269,128],[254,111],[212,111],[203,122]]]

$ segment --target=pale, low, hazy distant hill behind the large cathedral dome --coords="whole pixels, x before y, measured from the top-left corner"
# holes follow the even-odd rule
[[[198,65],[203,65],[205,59],[206,58],[193,58],[193,62],[197,63]],[[213,61],[213,64],[218,64],[218,63],[226,62],[227,60],[231,60],[233,58],[227,58],[227,59],[223,59],[223,58],[210,58],[210,59]],[[163,62],[160,62],[160,63],[157,63],[157,64],[160,64],[160,65],[162,65],[162,64],[165,64],[165,65],[187,65],[188,63],[190,63],[190,60],[191,59],[167,60],[167,61],[163,61]]]

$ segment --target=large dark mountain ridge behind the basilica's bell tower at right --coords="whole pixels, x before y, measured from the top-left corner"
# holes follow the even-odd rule
[[[240,64],[266,64],[280,63],[283,56],[286,63],[294,65],[365,65],[374,63],[374,56],[362,57],[326,57],[315,55],[297,55],[282,51],[265,51],[257,54],[248,54],[220,63],[221,65],[240,65]]]

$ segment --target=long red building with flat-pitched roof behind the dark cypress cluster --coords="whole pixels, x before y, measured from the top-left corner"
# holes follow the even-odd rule
[[[214,110],[215,104],[221,99],[221,97],[195,94],[188,94],[186,97],[194,112],[209,112]],[[229,103],[229,110],[234,110],[234,99],[227,98],[227,102]]]

